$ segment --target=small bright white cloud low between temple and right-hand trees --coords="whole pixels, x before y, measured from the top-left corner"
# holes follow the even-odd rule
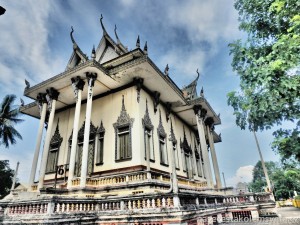
[[[254,166],[242,166],[239,167],[234,177],[230,177],[226,180],[227,186],[235,187],[238,182],[250,182],[252,180],[252,171]]]

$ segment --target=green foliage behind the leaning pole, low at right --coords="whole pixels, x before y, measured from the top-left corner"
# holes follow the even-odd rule
[[[274,162],[266,162],[268,174],[273,186],[276,199],[292,197],[294,191],[300,192],[300,168],[294,162],[286,162],[279,165]],[[253,169],[253,180],[249,184],[253,192],[261,192],[266,187],[266,179],[261,162],[258,161]]]

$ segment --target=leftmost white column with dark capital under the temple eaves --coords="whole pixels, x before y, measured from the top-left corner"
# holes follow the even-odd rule
[[[39,130],[38,130],[35,151],[34,151],[34,156],[33,156],[33,161],[32,161],[32,166],[31,166],[31,172],[30,172],[30,177],[29,177],[29,185],[30,186],[32,186],[34,184],[34,178],[35,178],[36,167],[37,167],[37,163],[38,163],[38,159],[39,159],[39,153],[40,153],[43,130],[44,130],[44,123],[45,123],[46,112],[47,112],[47,101],[46,101],[44,94],[40,93],[38,95],[38,101],[39,101],[38,104],[41,106],[41,112],[40,112],[41,118],[40,118]]]

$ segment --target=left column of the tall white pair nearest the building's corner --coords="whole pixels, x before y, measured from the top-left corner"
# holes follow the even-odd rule
[[[81,93],[84,86],[84,81],[81,80],[79,77],[76,77],[75,79],[72,78],[71,81],[72,81],[72,87],[74,89],[75,98],[76,98],[76,107],[75,107],[71,153],[70,153],[70,161],[69,161],[69,174],[68,174],[68,186],[67,186],[68,189],[71,188],[72,179],[74,177],[76,149],[77,149],[77,141],[78,141],[79,117],[80,117],[80,108],[81,108]]]

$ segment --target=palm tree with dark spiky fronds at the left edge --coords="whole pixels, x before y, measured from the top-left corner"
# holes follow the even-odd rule
[[[16,144],[16,138],[22,139],[21,134],[14,128],[14,125],[22,122],[19,119],[19,107],[14,106],[15,95],[6,95],[0,104],[0,145],[6,148]]]

